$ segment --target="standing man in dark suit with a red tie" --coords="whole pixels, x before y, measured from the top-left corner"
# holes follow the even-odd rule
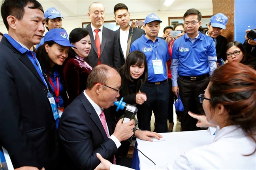
[[[91,24],[85,29],[89,31],[92,49],[86,60],[88,60],[92,67],[106,64],[120,68],[117,34],[115,31],[109,30],[103,26],[105,7],[100,2],[93,2],[89,6],[88,17],[91,20]],[[98,46],[97,42],[99,43]]]

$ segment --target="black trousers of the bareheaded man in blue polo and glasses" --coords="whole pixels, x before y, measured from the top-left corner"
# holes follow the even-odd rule
[[[193,113],[200,115],[204,114],[203,106],[202,103],[199,102],[198,96],[204,93],[208,83],[209,77],[206,77],[199,81],[185,79],[181,76],[179,77],[179,94],[181,96],[181,101],[184,106],[184,111],[181,117],[182,131],[201,130],[200,127],[196,127],[196,123],[198,122],[198,120],[188,115],[188,111],[192,111]]]

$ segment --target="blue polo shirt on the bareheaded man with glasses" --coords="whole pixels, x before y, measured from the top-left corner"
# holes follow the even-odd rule
[[[201,76],[216,69],[216,50],[211,37],[201,32],[192,40],[187,33],[173,44],[171,74],[173,86],[180,76]]]

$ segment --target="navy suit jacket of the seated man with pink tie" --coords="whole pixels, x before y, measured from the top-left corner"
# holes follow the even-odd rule
[[[110,135],[115,128],[108,109],[104,109]],[[107,138],[96,111],[84,93],[64,110],[59,122],[58,138],[62,170],[93,170],[100,164],[96,153],[113,163],[117,147]]]

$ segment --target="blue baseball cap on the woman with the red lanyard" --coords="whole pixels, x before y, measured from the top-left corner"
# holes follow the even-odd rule
[[[68,39],[68,33],[66,30],[61,29],[61,28],[54,28],[49,30],[44,37],[44,42],[47,41],[54,41],[59,45],[62,46],[71,46],[73,48],[76,48],[72,44],[70,44],[70,41]]]

